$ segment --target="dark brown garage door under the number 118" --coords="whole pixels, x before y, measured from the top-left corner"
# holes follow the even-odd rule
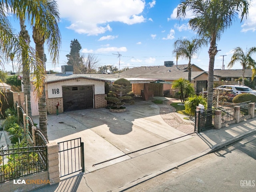
[[[63,86],[64,111],[93,108],[93,86]]]

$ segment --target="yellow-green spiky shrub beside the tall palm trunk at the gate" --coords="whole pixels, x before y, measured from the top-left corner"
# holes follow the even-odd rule
[[[204,108],[207,107],[206,98],[203,98],[202,96],[193,96],[189,97],[185,101],[185,112],[189,114],[189,116],[195,115],[196,106],[199,104],[204,105]]]

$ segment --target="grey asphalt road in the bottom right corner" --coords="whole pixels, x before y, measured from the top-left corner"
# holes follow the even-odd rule
[[[255,192],[256,135],[207,154],[127,192]]]

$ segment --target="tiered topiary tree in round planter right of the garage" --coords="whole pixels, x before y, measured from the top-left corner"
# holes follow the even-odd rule
[[[132,100],[132,86],[130,84],[130,81],[120,78],[116,80],[108,93],[108,96],[105,97],[105,99],[108,102],[114,103],[114,106],[110,108],[110,111],[112,112],[124,112],[126,111],[126,107],[124,107],[124,104],[130,103],[134,104],[134,101]],[[132,102],[129,102],[132,100]]]

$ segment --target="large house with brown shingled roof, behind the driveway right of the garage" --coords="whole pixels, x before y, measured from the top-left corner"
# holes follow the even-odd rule
[[[122,72],[123,77],[136,78],[153,78],[164,80],[163,90],[172,90],[172,82],[179,78],[188,79],[188,65],[163,65],[163,66],[143,66],[134,67]],[[201,92],[202,88],[207,88],[208,73],[198,66],[191,65],[191,83],[194,86],[195,92]],[[169,82],[169,83],[166,83]],[[143,89],[141,87],[141,89]],[[171,93],[172,94],[172,91]]]

